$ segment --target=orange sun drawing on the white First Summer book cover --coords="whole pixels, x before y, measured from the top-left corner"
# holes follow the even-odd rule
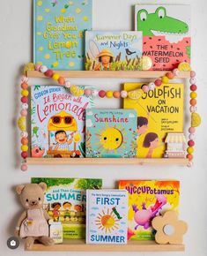
[[[117,223],[119,220],[116,218],[113,210],[109,213],[109,209],[107,209],[107,213],[102,211],[102,214],[99,214],[96,219],[96,225],[100,230],[105,230],[111,233],[112,230],[118,230],[119,224]]]

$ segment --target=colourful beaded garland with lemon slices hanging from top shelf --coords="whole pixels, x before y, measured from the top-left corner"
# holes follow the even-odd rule
[[[131,98],[133,100],[137,100],[141,97],[143,93],[147,93],[150,90],[154,90],[155,87],[160,87],[163,83],[167,84],[170,79],[174,79],[174,76],[179,75],[179,69],[174,69],[173,72],[166,72],[166,75],[159,78],[155,79],[154,82],[150,82],[148,84],[144,84],[141,87],[141,90],[135,90],[131,92],[127,92],[122,90],[121,92],[119,91],[105,91],[105,90],[95,90],[95,89],[89,89],[85,88],[85,90],[79,88],[78,86],[72,86],[70,84],[70,81],[68,79],[64,79],[61,77],[57,72],[54,72],[51,69],[48,69],[47,66],[41,65],[41,64],[36,64],[35,65],[35,70],[43,73],[46,77],[54,79],[55,81],[58,82],[59,85],[63,87],[67,87],[70,89],[70,93],[75,95],[75,96],[90,96],[92,95],[93,97],[99,96],[100,98],[105,98],[107,97],[108,99],[110,98]],[[196,72],[191,71],[190,72],[190,90],[191,93],[189,94],[190,96],[190,113],[191,113],[191,126],[189,127],[189,141],[188,141],[188,148],[187,148],[187,158],[189,159],[189,164],[188,166],[192,166],[192,160],[193,160],[193,152],[194,152],[194,146],[195,146],[195,132],[196,132],[196,127],[201,123],[201,117],[196,113]],[[27,109],[28,109],[28,78],[26,76],[23,76],[21,79],[21,110],[20,110],[20,117],[18,118],[18,128],[21,131],[21,157],[23,159],[23,162],[21,164],[21,170],[26,171],[27,169],[27,164],[26,164],[26,158],[28,157],[28,133],[26,132],[26,116],[27,116]],[[140,93],[142,91],[142,93]]]

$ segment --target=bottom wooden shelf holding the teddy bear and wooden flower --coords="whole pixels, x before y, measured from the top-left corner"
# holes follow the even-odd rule
[[[62,245],[34,244],[31,250],[48,252],[183,252],[185,245],[158,245],[154,241],[129,241],[127,245],[86,245],[85,240],[71,239]]]

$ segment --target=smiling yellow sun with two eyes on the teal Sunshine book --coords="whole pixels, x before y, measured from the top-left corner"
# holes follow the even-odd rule
[[[98,136],[99,142],[96,145],[100,145],[98,149],[101,149],[102,153],[107,150],[107,153],[114,151],[116,154],[117,148],[125,148],[126,141],[123,139],[123,136],[126,135],[126,132],[124,132],[124,128],[120,130],[121,126],[116,127],[115,125],[114,127],[109,127],[106,124],[106,127],[102,131],[98,130],[100,133],[96,133],[96,136]]]

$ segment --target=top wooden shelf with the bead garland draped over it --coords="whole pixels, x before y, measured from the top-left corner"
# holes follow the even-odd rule
[[[87,71],[58,71],[63,78],[110,78],[110,79],[156,79],[164,76],[166,72],[87,72]],[[26,72],[28,78],[47,77],[41,72],[28,71]],[[190,72],[180,72],[179,76],[174,79],[189,79]]]

